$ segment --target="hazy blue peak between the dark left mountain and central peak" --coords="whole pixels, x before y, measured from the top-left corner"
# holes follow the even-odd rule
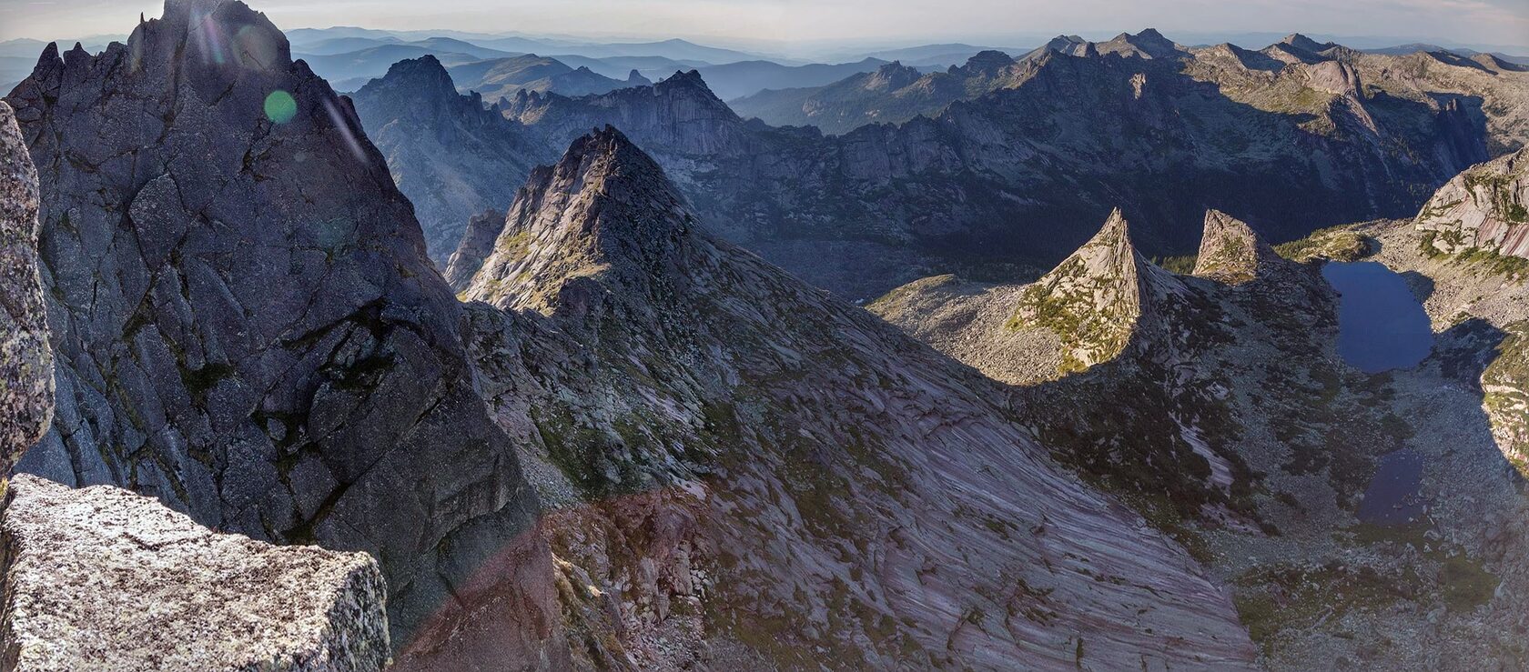
[[[477,92],[459,95],[436,57],[399,61],[352,98],[442,269],[472,215],[503,212],[531,168],[555,159]]]

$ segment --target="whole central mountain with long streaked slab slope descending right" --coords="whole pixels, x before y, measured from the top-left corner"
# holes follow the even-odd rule
[[[705,231],[619,131],[537,170],[466,290],[576,660],[1245,666],[1219,588],[1001,391]]]

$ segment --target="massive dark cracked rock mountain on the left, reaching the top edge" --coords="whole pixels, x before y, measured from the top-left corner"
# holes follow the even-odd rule
[[[537,498],[472,393],[453,293],[350,104],[271,21],[170,2],[99,55],[49,47],[9,102],[41,166],[58,386],[23,470],[368,551],[396,646],[521,553],[541,565],[498,612],[505,646],[557,661]]]

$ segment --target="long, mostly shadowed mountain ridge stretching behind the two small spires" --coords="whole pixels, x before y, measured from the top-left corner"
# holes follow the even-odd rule
[[[1521,134],[1521,72],[1368,55],[1271,69],[1257,52],[1138,41],[1162,58],[980,58],[940,78],[985,78],[980,95],[842,136],[743,121],[694,73],[599,96],[517,95],[502,111],[546,147],[616,125],[713,231],[852,299],[942,270],[1026,276],[1115,206],[1154,255],[1191,252],[1182,221],[1206,208],[1275,240],[1401,217]],[[856,87],[902,82],[887,70]]]

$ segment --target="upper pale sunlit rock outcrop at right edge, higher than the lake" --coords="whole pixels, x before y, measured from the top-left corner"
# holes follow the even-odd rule
[[[1428,199],[1414,226],[1439,254],[1529,257],[1529,150],[1460,173]]]

